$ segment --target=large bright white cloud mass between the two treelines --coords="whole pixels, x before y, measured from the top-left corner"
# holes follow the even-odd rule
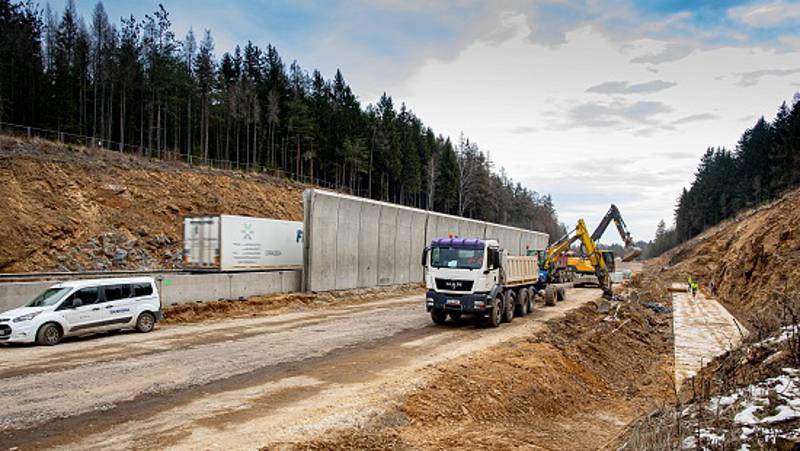
[[[625,92],[598,99],[587,87],[652,80],[655,60],[642,64],[641,57],[663,54],[672,42],[610,39],[586,26],[554,47],[531,41],[528,23],[518,16],[501,43],[479,40],[447,60],[427,60],[390,92],[404,92],[397,100],[437,132],[463,130],[498,168],[551,193],[568,224],[578,217],[596,224],[614,202],[635,238],[652,238],[660,219],[671,220],[704,150],[733,148],[747,125],[741,117],[772,117],[794,92],[792,77],[742,89],[740,77],[720,76],[792,68],[800,52],[720,46],[657,58],[659,78],[675,85],[646,93],[646,100]]]

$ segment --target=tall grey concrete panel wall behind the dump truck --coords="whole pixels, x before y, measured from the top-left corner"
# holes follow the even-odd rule
[[[545,233],[310,189],[303,195],[308,291],[422,281],[420,255],[434,238],[496,238],[511,254],[545,249]]]

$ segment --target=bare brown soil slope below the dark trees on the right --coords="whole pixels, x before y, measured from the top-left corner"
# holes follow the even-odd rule
[[[800,190],[726,221],[656,259],[662,280],[699,279],[751,330],[778,324],[800,288]]]

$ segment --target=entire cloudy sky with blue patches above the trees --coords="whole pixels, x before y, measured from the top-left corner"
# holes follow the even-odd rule
[[[616,203],[637,239],[671,222],[707,147],[733,148],[800,90],[798,1],[163,3],[179,35],[211,29],[218,54],[272,43],[286,62],[341,68],[362,103],[386,91],[463,131],[567,224],[591,228]],[[105,2],[112,19],[157,4]]]

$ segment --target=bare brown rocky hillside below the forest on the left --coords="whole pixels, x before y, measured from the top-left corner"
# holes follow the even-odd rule
[[[0,272],[165,269],[184,216],[302,220],[298,183],[0,136]]]

